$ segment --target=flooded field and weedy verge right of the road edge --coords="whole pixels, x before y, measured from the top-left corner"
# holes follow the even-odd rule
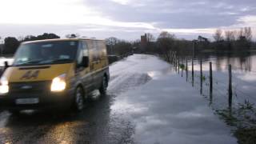
[[[200,58],[198,58],[200,59]],[[241,139],[249,139],[255,142],[255,113],[256,103],[256,71],[254,63],[256,62],[255,54],[223,54],[222,56],[214,55],[203,59],[202,73],[206,76],[205,82],[198,83],[199,77],[193,76],[190,83],[200,89],[201,94],[209,101],[210,107],[218,114],[228,125],[234,126],[234,134]],[[214,63],[214,90],[209,94],[209,64]],[[232,91],[228,93],[228,65],[232,66]],[[190,66],[191,67],[191,66]],[[195,67],[195,75],[199,76],[199,65]],[[191,70],[191,69],[190,69]],[[202,84],[203,83],[203,84]],[[197,85],[198,84],[198,85]],[[232,94],[232,95],[230,95]]]

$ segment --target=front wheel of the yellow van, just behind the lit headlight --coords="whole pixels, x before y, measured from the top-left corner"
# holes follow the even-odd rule
[[[80,112],[84,108],[84,94],[84,90],[82,90],[81,86],[78,86],[75,89],[73,105],[74,111]]]

